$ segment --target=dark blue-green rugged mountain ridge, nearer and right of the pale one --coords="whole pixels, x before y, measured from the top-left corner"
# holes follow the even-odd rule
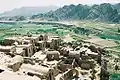
[[[120,3],[100,5],[69,5],[50,11],[44,14],[33,15],[32,18],[52,18],[53,20],[81,20],[94,19],[101,21],[119,22],[120,20]]]

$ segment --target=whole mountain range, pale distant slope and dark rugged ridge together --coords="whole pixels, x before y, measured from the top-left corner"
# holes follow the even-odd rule
[[[63,7],[22,7],[0,14],[0,20],[25,20],[48,19],[48,20],[98,20],[120,23],[120,3],[118,4],[94,4],[88,5],[65,5]]]

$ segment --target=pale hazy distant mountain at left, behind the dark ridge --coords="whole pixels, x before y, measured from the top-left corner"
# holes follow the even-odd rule
[[[21,7],[11,11],[6,11],[0,14],[0,17],[14,17],[14,16],[32,16],[38,13],[46,13],[51,10],[58,9],[58,6],[45,6],[45,7]]]

